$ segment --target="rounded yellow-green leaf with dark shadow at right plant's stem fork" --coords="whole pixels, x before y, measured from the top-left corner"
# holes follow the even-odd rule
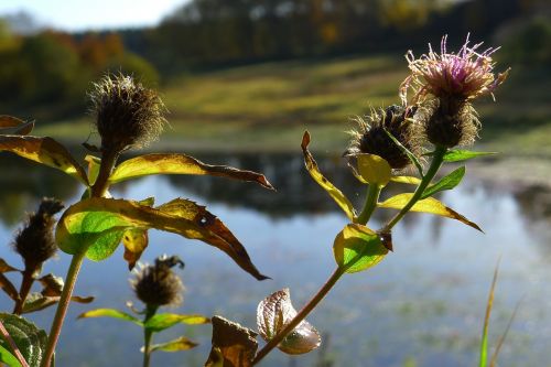
[[[379,263],[388,253],[380,236],[358,224],[348,224],[335,237],[333,253],[339,268],[353,273]]]

